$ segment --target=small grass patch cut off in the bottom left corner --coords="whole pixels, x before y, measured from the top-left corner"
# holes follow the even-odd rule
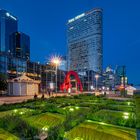
[[[19,140],[19,138],[0,128],[0,140]]]

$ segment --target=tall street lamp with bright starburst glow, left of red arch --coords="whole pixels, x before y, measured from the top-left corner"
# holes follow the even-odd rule
[[[60,56],[53,56],[51,58],[51,64],[53,64],[55,66],[55,70],[56,70],[56,76],[55,76],[55,82],[56,82],[56,86],[55,86],[55,91],[57,93],[57,69],[58,69],[58,66],[60,66],[61,64],[61,57]]]

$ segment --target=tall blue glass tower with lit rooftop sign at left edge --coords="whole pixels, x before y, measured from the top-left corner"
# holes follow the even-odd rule
[[[6,73],[10,55],[10,35],[18,29],[17,18],[0,9],[0,72]]]

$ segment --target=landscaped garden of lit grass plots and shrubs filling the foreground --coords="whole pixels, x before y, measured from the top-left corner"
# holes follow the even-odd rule
[[[0,139],[135,140],[140,98],[91,94],[0,106]]]

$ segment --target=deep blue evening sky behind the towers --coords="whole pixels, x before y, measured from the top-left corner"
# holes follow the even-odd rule
[[[103,9],[104,67],[126,65],[130,83],[140,84],[139,0],[0,0],[31,38],[31,60],[44,63],[66,54],[66,22],[95,7]]]

